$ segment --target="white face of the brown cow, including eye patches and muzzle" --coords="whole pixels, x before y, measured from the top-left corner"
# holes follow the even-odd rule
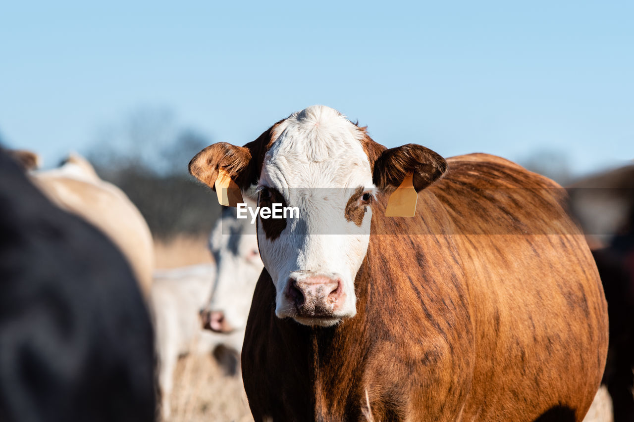
[[[271,134],[259,205],[299,208],[299,218],[258,221],[278,317],[329,326],[356,314],[354,278],[368,248],[375,191],[363,136],[324,106],[291,115]]]

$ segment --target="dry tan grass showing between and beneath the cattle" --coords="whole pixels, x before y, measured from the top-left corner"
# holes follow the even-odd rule
[[[155,256],[158,268],[212,262],[206,237],[177,236],[169,242],[155,242]],[[181,358],[174,376],[169,422],[252,421],[242,377],[239,372],[228,374],[227,367],[212,355]],[[612,422],[611,412],[612,400],[601,388],[584,422]]]

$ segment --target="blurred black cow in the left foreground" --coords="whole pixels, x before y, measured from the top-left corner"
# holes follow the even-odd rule
[[[0,421],[152,421],[153,350],[122,255],[0,151]]]

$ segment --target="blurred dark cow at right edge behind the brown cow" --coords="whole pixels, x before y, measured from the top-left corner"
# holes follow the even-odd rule
[[[610,345],[603,383],[614,422],[634,421],[634,165],[588,177],[569,188],[603,282]]]

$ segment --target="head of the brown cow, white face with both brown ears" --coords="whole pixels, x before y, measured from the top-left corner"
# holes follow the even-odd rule
[[[441,177],[445,160],[424,146],[385,149],[365,128],[326,106],[280,120],[245,146],[200,151],[190,172],[212,188],[219,169],[259,205],[299,208],[299,218],[258,217],[257,238],[276,288],[276,316],[330,326],[356,314],[354,279],[365,258],[375,196],[413,172],[417,191]]]

